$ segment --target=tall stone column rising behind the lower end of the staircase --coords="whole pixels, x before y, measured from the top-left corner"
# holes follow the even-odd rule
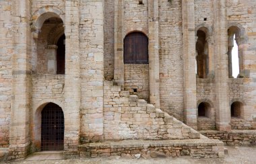
[[[182,1],[185,123],[197,129],[194,0]]]

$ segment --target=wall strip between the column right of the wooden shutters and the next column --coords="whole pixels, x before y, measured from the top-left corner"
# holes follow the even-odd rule
[[[159,3],[161,109],[183,120],[183,37],[181,1]]]

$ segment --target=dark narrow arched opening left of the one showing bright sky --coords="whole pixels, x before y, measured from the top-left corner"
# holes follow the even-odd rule
[[[196,50],[197,50],[197,76],[199,78],[206,78],[208,75],[208,44],[206,41],[206,34],[203,30],[197,31],[197,43],[196,43]]]

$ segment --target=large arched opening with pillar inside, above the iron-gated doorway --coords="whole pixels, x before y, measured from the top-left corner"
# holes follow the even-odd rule
[[[51,15],[44,13],[42,17]],[[49,17],[42,23],[37,39],[36,72],[65,74],[65,34],[60,17]]]

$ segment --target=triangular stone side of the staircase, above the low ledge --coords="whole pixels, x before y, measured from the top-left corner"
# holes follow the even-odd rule
[[[200,138],[189,126],[147,104],[113,81],[104,81],[104,139]]]

